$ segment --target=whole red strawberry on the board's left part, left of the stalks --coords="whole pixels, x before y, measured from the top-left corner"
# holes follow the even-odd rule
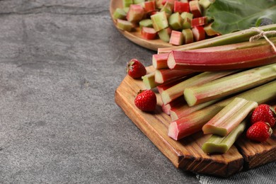
[[[154,111],[156,108],[156,94],[151,90],[140,90],[134,100],[135,105],[139,110]]]

